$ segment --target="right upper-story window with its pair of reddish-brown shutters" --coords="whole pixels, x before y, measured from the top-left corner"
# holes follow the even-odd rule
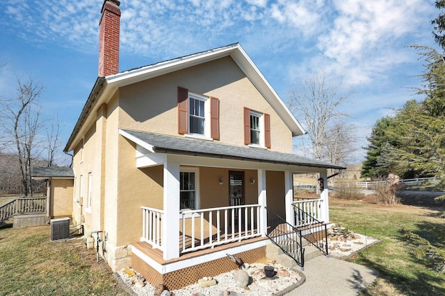
[[[244,107],[245,145],[270,148],[270,115]]]

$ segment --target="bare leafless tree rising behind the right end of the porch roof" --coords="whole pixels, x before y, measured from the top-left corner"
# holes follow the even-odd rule
[[[314,159],[332,164],[344,163],[357,150],[353,145],[355,127],[346,121],[348,114],[340,110],[350,94],[341,93],[340,87],[341,82],[328,84],[323,71],[300,87],[293,87],[289,96],[289,108],[305,125],[310,139],[310,143],[303,140],[300,148]]]

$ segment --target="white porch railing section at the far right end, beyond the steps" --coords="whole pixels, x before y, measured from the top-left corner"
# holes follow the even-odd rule
[[[309,226],[324,220],[322,199],[297,200],[292,202],[292,204],[296,217],[296,227]]]

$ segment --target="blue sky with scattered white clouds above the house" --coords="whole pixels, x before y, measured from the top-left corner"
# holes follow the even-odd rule
[[[1,95],[16,77],[44,85],[68,139],[97,78],[102,0],[3,0]],[[412,98],[423,71],[410,45],[434,46],[433,0],[122,0],[120,71],[240,42],[284,101],[313,73],[341,80],[361,131]],[[420,99],[420,98],[418,98]],[[361,160],[361,159],[360,159]]]

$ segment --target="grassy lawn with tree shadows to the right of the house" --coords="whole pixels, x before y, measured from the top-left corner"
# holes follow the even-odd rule
[[[435,259],[419,240],[426,238],[445,250],[445,219],[440,209],[401,204],[385,207],[350,200],[330,200],[330,220],[348,229],[382,241],[360,252],[350,261],[375,268],[380,277],[363,295],[445,295],[445,272],[435,268]],[[422,256],[425,255],[425,256]]]

